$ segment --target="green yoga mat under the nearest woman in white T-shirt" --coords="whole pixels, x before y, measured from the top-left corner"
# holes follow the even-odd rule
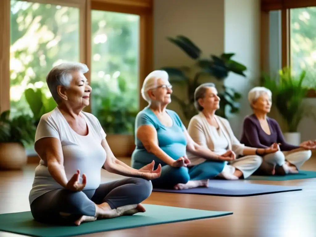
[[[233,214],[226,211],[207,211],[189,208],[144,204],[146,212],[133,216],[85,222],[80,226],[52,226],[33,220],[31,212],[0,215],[0,231],[42,237],[64,237],[96,232],[158,225],[172,222],[191,221]]]

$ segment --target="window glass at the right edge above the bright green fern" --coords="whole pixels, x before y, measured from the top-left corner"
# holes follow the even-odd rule
[[[290,62],[294,72],[306,70],[305,84],[316,86],[316,7],[290,9]]]

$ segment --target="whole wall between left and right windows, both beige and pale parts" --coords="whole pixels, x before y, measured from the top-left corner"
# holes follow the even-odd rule
[[[231,74],[226,85],[243,94],[241,111],[231,117],[236,137],[240,137],[241,123],[249,114],[247,92],[259,79],[259,0],[155,0],[154,2],[154,66],[191,65],[180,49],[166,40],[167,36],[183,34],[195,42],[204,56],[235,52],[235,60],[248,67],[247,78]],[[252,84],[251,84],[252,83]],[[176,95],[183,95],[174,90]],[[168,108],[179,113],[176,103]],[[183,121],[185,125],[187,121]]]

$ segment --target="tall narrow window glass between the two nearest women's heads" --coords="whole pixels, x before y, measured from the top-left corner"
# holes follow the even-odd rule
[[[134,132],[139,111],[139,18],[91,12],[91,111],[106,133]]]

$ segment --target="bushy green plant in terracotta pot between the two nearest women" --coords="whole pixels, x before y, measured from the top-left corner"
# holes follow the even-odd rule
[[[99,119],[106,140],[117,157],[130,157],[135,149],[135,118],[139,111],[137,88],[131,88],[128,78],[119,76],[116,85],[103,80],[92,82],[91,110]]]

